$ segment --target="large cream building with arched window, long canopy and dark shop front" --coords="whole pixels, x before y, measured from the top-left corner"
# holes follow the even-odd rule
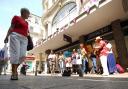
[[[48,49],[69,50],[81,42],[91,50],[95,37],[101,36],[113,44],[120,64],[128,67],[127,0],[43,0],[42,4],[44,38],[33,52],[46,55]]]

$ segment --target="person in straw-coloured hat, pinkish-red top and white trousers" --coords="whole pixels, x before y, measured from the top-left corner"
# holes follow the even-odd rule
[[[101,65],[103,67],[103,76],[108,76],[109,72],[108,72],[108,66],[107,66],[107,56],[108,56],[108,49],[106,47],[106,42],[104,40],[102,40],[102,38],[100,36],[96,37],[96,47],[95,49],[98,49],[99,51],[99,58],[101,61]]]

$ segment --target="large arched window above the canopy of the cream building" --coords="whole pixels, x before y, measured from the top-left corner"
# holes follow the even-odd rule
[[[76,10],[76,3],[70,2],[66,4],[60,11],[56,14],[53,19],[52,25],[62,21],[66,16],[68,16],[72,11]]]

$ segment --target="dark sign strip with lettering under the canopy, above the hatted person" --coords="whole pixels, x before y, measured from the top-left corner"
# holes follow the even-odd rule
[[[85,39],[89,40],[89,39],[95,38],[96,36],[100,36],[100,35],[103,35],[105,33],[111,32],[111,31],[112,31],[112,29],[111,29],[111,26],[109,25],[107,27],[101,28],[95,32],[92,32],[92,33],[86,35]]]

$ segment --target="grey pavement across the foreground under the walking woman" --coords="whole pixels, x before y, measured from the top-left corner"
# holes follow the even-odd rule
[[[11,81],[10,75],[0,76],[0,89],[128,89],[128,78],[19,76]]]

